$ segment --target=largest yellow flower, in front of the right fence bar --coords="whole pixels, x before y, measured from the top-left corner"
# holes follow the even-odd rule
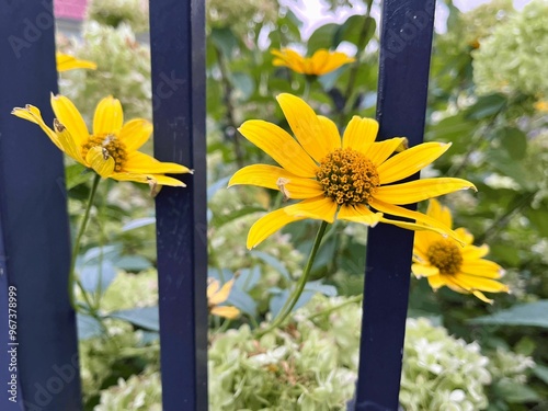
[[[442,156],[449,148],[448,144],[425,142],[392,156],[406,138],[376,142],[378,123],[374,119],[354,116],[341,140],[335,124],[316,115],[301,99],[281,94],[277,101],[296,139],[275,124],[260,119],[246,122],[239,132],[282,167],[244,167],[232,176],[229,186],[252,184],[279,190],[286,199],[301,202],[260,218],[251,227],[248,248],[255,247],[289,222],[304,218],[333,222],[335,216],[372,227],[380,221],[456,236],[439,221],[400,205],[475,189],[472,183],[438,178],[395,184]],[[416,224],[388,219],[384,213]]]

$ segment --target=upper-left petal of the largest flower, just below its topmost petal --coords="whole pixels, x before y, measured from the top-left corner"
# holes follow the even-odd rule
[[[283,128],[261,119],[250,119],[238,130],[290,173],[307,178],[316,176],[318,165]]]

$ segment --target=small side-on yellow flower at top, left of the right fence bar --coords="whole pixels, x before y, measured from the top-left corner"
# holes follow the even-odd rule
[[[290,48],[273,49],[271,53],[276,56],[272,61],[274,66],[288,67],[293,71],[308,76],[322,76],[347,62],[355,61],[355,58],[344,53],[329,52],[324,48],[317,50],[312,57],[302,57]]]

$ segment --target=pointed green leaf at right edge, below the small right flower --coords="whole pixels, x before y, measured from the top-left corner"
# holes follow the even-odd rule
[[[529,326],[548,328],[548,299],[516,305],[491,316],[469,320],[472,324]]]

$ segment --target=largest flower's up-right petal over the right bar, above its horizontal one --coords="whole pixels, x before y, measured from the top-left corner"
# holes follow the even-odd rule
[[[423,142],[397,153],[377,167],[380,184],[393,183],[419,172],[442,156],[450,144]]]

